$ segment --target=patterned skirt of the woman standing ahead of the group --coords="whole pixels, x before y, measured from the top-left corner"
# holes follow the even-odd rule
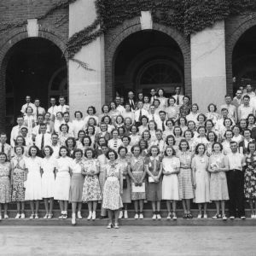
[[[120,195],[120,184],[117,177],[107,178],[104,184],[102,207],[113,211],[123,207]]]

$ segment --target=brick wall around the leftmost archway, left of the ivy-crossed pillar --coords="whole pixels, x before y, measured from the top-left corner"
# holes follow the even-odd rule
[[[1,0],[1,22],[22,22],[44,15],[58,0]],[[38,20],[41,38],[55,43],[63,52],[68,39],[68,9],[60,9]],[[5,72],[13,45],[27,38],[26,25],[0,32],[0,131],[5,130]]]

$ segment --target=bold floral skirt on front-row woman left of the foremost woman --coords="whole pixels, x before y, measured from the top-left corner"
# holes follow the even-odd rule
[[[102,200],[102,191],[98,177],[86,176],[84,178],[82,201],[100,201]]]

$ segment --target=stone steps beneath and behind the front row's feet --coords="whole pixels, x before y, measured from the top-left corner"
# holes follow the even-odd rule
[[[53,218],[52,219],[44,219],[45,211],[44,211],[44,203],[40,202],[40,207],[39,207],[39,219],[29,219],[31,215],[31,211],[29,208],[29,204],[26,203],[26,218],[25,219],[15,219],[16,215],[16,210],[15,210],[15,204],[11,203],[9,204],[9,219],[2,219],[0,222],[1,225],[38,225],[38,226],[66,226],[71,224],[71,205],[69,205],[68,209],[68,218],[67,219],[61,219],[59,220],[58,217],[60,215],[60,210],[58,207],[57,202],[54,204],[54,211],[53,211]],[[192,204],[192,215],[193,219],[183,219],[183,209],[181,207],[181,202],[178,202],[177,204],[177,220],[167,220],[167,211],[166,211],[166,204],[165,202],[162,203],[161,208],[161,220],[152,220],[152,210],[150,203],[145,203],[144,205],[144,219],[134,219],[134,210],[133,206],[130,205],[128,209],[128,219],[121,219],[119,221],[120,225],[125,225],[125,226],[165,226],[165,225],[172,225],[172,226],[179,226],[179,225],[184,225],[184,226],[233,226],[233,225],[238,225],[238,226],[256,226],[256,219],[252,219],[250,216],[250,210],[247,208],[246,210],[246,220],[241,220],[239,218],[236,218],[234,220],[228,219],[227,221],[224,221],[222,219],[212,219],[212,216],[216,213],[216,210],[214,208],[214,204],[209,204],[207,214],[208,218],[207,219],[197,219],[197,214],[198,210],[196,209],[196,205]],[[98,205],[98,209],[100,208],[100,205]],[[228,212],[227,216],[228,215]],[[79,220],[77,219],[77,225],[81,226],[105,226],[108,224],[108,219],[99,219],[100,217],[100,210],[97,210],[96,212],[96,220],[87,220],[87,215],[88,215],[88,209],[87,205],[83,204],[82,208],[82,217],[83,219]],[[2,212],[2,217],[3,217],[3,212]]]

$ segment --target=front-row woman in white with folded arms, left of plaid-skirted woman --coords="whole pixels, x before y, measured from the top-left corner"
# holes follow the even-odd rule
[[[166,157],[162,160],[164,174],[162,183],[162,200],[166,200],[168,211],[167,219],[177,219],[176,202],[179,200],[177,173],[179,173],[180,161],[175,156],[175,150],[170,146],[166,147],[165,155]]]

